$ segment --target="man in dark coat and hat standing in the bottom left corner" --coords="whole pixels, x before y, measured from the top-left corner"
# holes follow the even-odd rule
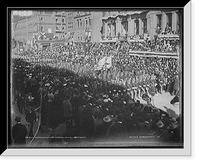
[[[15,121],[17,124],[12,127],[12,137],[14,144],[26,144],[26,126],[21,124],[21,117],[16,117]]]

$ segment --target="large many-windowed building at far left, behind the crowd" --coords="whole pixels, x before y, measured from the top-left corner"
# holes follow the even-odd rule
[[[65,12],[36,11],[33,15],[13,22],[13,38],[30,44],[33,35],[51,33],[60,38],[66,31]]]

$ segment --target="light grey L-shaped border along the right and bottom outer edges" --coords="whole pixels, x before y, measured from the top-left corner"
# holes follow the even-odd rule
[[[192,1],[184,7],[184,149],[6,149],[1,157],[17,156],[191,156],[192,155]]]

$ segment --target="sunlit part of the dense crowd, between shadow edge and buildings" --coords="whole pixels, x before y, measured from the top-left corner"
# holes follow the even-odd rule
[[[179,74],[178,59],[131,56],[129,50],[130,44],[126,42],[123,44],[79,43],[57,46],[52,50],[32,50],[23,53],[21,57],[27,58],[29,62],[42,62],[44,65],[72,70],[79,75],[98,76],[129,88],[147,85],[158,74],[166,86]],[[112,58],[110,68],[95,70],[98,61],[105,56]]]

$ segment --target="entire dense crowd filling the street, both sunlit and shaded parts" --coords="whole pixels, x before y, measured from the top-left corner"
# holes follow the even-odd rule
[[[41,108],[43,131],[66,123],[65,137],[127,140],[144,133],[179,141],[180,116],[172,118],[151,103],[162,90],[178,93],[178,60],[131,56],[129,48],[126,42],[78,43],[15,54],[14,101],[21,113]],[[96,71],[105,55],[112,56],[112,66]]]

